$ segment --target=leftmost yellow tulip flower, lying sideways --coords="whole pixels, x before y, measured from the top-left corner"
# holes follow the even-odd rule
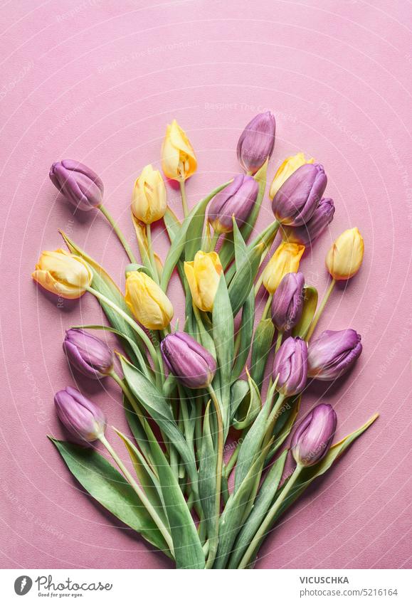
[[[48,292],[68,300],[83,296],[93,279],[85,261],[65,250],[43,252],[31,276]]]

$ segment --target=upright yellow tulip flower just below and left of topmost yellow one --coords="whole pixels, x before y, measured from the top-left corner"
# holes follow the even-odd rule
[[[166,208],[166,187],[162,174],[149,164],[134,183],[132,212],[139,221],[152,224],[163,218]]]

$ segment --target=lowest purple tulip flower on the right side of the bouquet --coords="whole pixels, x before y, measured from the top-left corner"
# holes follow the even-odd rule
[[[292,436],[290,450],[299,465],[310,466],[322,460],[329,451],[337,415],[330,405],[318,405],[302,420]]]

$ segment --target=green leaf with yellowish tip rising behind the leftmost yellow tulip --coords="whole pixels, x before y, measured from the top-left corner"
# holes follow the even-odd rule
[[[90,258],[89,255],[87,255],[85,252],[83,252],[83,250],[81,250],[78,247],[78,245],[76,245],[74,243],[74,241],[72,241],[68,237],[68,235],[65,235],[65,233],[63,233],[63,231],[60,231],[60,234],[62,235],[63,239],[65,240],[65,243],[68,246],[70,252],[75,255],[80,256],[80,258],[83,258],[83,260],[85,260],[85,263],[88,264],[88,267],[90,268],[90,271],[92,272],[92,275],[93,275],[93,280],[91,283],[93,289],[95,289],[95,290],[97,290],[97,292],[100,292],[101,294],[105,295],[107,298],[112,300],[112,302],[115,302],[115,304],[117,304],[118,307],[120,307],[126,314],[128,314],[130,317],[132,317],[132,314],[130,312],[129,307],[127,306],[127,304],[125,302],[125,298],[123,297],[122,292],[120,292],[119,288],[117,287],[115,282],[112,280],[112,278],[109,275],[107,275],[107,272],[105,272],[105,270],[97,262],[95,262],[95,260],[93,260],[93,258]],[[107,304],[105,304],[105,302],[99,301],[99,303],[100,303],[100,306],[102,307],[103,311],[105,312],[105,315],[106,315],[109,323],[112,325],[112,327],[117,329],[118,332],[125,334],[125,336],[132,339],[133,341],[136,341],[136,332],[134,332],[132,327],[130,327],[130,325],[127,322],[125,322],[125,319],[122,319],[122,317],[120,317],[120,315],[117,314],[117,312],[115,312],[115,310],[110,308],[110,306],[107,306]],[[140,341],[137,341],[137,346],[139,346],[139,349],[141,351],[144,350],[144,347],[140,343]],[[130,359],[132,359],[132,361],[134,363],[139,364],[139,360],[137,359],[137,356],[134,354],[134,351],[129,344],[125,345],[125,351],[127,352],[127,355],[130,356]]]

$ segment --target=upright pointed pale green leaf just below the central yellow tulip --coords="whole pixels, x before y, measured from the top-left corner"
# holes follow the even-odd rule
[[[213,303],[213,341],[220,382],[220,401],[225,436],[229,429],[231,406],[231,373],[233,365],[233,314],[225,277],[221,279]]]

